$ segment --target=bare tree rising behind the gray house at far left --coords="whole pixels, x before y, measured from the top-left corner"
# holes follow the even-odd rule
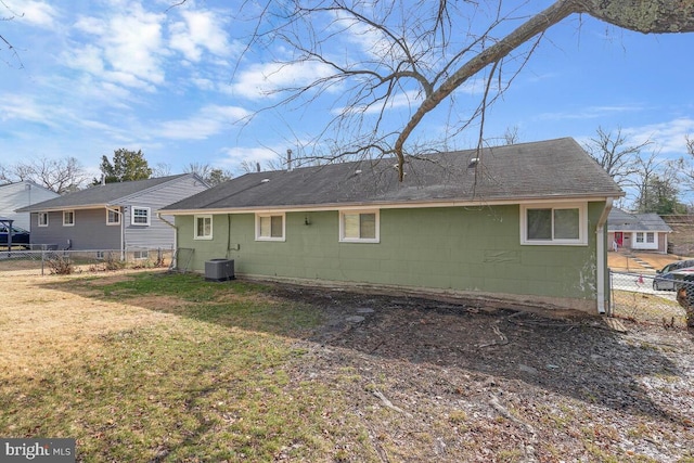
[[[59,194],[81,189],[88,180],[85,169],[76,157],[21,162],[0,168],[5,181],[30,180]]]

